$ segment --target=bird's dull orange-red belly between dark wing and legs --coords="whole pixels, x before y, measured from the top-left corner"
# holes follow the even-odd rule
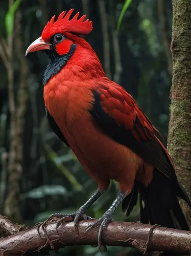
[[[71,150],[100,187],[113,179],[120,182],[121,189],[131,190],[136,173],[142,169],[141,158],[104,134],[88,113],[73,119],[69,126],[60,126]]]

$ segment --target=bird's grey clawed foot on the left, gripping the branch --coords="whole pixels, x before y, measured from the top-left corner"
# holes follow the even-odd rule
[[[73,212],[73,214],[52,214],[49,217],[49,220],[53,219],[55,217],[60,218],[60,220],[56,224],[57,233],[58,233],[58,227],[60,226],[60,224],[62,222],[74,220],[75,230],[77,233],[79,233],[78,221],[79,220],[87,221],[87,220],[92,219],[91,217],[86,215],[86,209],[84,209],[83,207],[80,207],[77,211]]]

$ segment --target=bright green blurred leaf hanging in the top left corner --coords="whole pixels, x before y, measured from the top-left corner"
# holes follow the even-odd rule
[[[14,14],[17,8],[19,7],[21,1],[22,0],[16,0],[5,15],[5,27],[7,30],[7,36],[10,36],[13,33]]]

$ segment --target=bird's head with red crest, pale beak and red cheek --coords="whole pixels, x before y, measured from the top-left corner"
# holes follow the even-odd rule
[[[29,52],[50,50],[62,56],[68,54],[71,46],[76,43],[87,47],[85,40],[78,35],[89,34],[92,30],[92,22],[89,19],[84,21],[86,15],[77,19],[79,12],[69,20],[73,11],[74,9],[63,11],[56,21],[53,16],[44,27],[41,36],[28,47],[26,55]]]

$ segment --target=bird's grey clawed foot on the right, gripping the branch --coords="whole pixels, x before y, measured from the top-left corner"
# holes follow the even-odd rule
[[[100,251],[103,252],[102,250],[102,233],[104,229],[107,229],[107,224],[109,222],[114,221],[112,218],[112,214],[110,211],[106,211],[105,214],[98,220],[94,221],[93,223],[91,223],[87,228],[86,231],[91,230],[94,227],[97,227],[98,225],[100,225],[99,231],[98,231],[98,246],[100,248]],[[106,246],[104,246],[105,251],[107,250]]]

